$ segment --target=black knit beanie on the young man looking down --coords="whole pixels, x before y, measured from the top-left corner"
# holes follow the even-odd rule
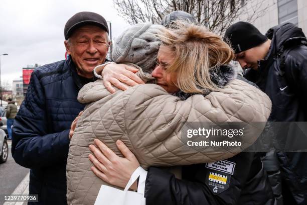
[[[267,37],[252,24],[237,22],[226,30],[224,39],[230,41],[237,54],[262,44]]]

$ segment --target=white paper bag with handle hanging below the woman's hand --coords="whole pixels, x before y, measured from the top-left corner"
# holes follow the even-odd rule
[[[101,185],[94,205],[145,205],[144,191],[147,172],[138,167],[131,175],[124,190]],[[128,191],[139,177],[137,192]]]

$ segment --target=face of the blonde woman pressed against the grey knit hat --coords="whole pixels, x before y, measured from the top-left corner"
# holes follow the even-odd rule
[[[152,77],[157,78],[157,84],[163,87],[169,93],[179,91],[179,88],[174,84],[177,82],[177,74],[166,74],[166,67],[174,62],[173,51],[170,47],[162,45],[158,52],[157,66],[152,71]]]

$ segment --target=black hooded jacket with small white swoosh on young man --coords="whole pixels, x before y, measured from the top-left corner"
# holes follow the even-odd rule
[[[272,100],[270,121],[307,121],[307,40],[300,28],[285,23],[268,30],[271,46],[258,71],[245,70]],[[307,153],[278,152],[285,184],[297,204],[307,204]],[[283,193],[285,193],[283,192]],[[288,203],[290,204],[290,203]],[[291,203],[292,204],[292,203]]]

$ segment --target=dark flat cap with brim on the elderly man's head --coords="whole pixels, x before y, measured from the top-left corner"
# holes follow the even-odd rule
[[[75,29],[85,25],[95,25],[109,33],[108,24],[102,16],[93,12],[79,12],[66,22],[64,28],[65,40],[71,36]]]

